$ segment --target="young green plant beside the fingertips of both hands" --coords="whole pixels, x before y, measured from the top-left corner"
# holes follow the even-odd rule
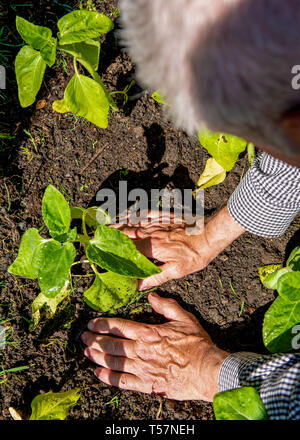
[[[37,279],[41,293],[32,303],[30,330],[36,328],[41,313],[53,316],[57,306],[71,293],[71,269],[78,243],[84,247],[94,272],[94,282],[84,293],[85,302],[99,312],[113,312],[137,292],[137,278],[147,278],[161,270],[142,255],[100,208],[70,208],[64,196],[49,185],[44,193],[42,215],[52,238],[45,239],[31,228],[22,237],[16,260],[8,272]],[[71,229],[71,220],[81,221],[82,231]],[[91,237],[88,229],[92,232]],[[105,270],[105,272],[104,272]]]

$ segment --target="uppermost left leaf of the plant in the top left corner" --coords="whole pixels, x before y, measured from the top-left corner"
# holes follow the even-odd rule
[[[52,37],[51,29],[37,26],[22,17],[16,17],[16,27],[23,40],[33,49],[41,50]]]

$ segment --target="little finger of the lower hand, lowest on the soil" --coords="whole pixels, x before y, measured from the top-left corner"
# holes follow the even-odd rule
[[[117,373],[108,368],[96,368],[96,377],[107,385],[114,385],[123,390],[140,391],[151,394],[152,384],[141,380],[133,374]]]

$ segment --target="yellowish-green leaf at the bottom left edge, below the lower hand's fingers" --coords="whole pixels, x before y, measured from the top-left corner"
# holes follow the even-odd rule
[[[69,409],[78,402],[80,388],[63,393],[39,394],[31,402],[29,420],[65,420]]]

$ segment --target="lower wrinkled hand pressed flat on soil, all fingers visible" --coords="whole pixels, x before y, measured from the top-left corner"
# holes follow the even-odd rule
[[[212,401],[218,375],[229,355],[213,345],[196,318],[174,299],[148,296],[153,309],[169,322],[141,324],[96,318],[82,335],[85,355],[97,365],[104,383],[157,393],[176,400]]]

